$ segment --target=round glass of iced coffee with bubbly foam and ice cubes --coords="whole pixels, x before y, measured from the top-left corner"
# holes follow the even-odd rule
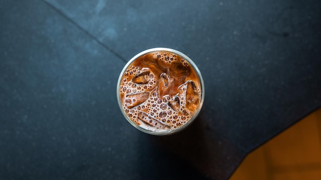
[[[204,81],[185,54],[154,48],[134,56],[117,82],[117,100],[127,121],[154,135],[185,129],[204,102]]]

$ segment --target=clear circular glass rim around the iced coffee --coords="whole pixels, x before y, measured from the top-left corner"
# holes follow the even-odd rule
[[[171,131],[168,131],[168,132],[154,132],[154,131],[149,131],[147,129],[144,129],[140,126],[138,126],[137,124],[135,124],[132,120],[129,119],[129,117],[126,115],[125,113],[125,110],[123,109],[123,105],[122,105],[122,102],[121,102],[121,97],[120,97],[120,93],[119,93],[119,87],[121,85],[121,80],[122,80],[122,77],[126,71],[126,69],[128,68],[128,66],[135,60],[137,59],[138,57],[144,55],[144,54],[147,54],[147,53],[151,53],[151,52],[156,52],[156,51],[167,51],[167,52],[171,52],[171,53],[174,53],[174,54],[177,54],[179,55],[180,57],[183,57],[185,60],[187,60],[193,67],[193,69],[195,70],[198,78],[199,78],[199,81],[200,81],[200,92],[201,92],[201,97],[200,97],[200,103],[199,103],[199,107],[197,108],[197,110],[194,112],[194,115],[192,116],[191,120],[188,121],[186,124],[184,124],[182,127],[179,127],[177,129],[174,129],[174,130],[171,130]],[[200,71],[199,69],[197,68],[196,64],[194,63],[194,61],[192,61],[192,59],[190,59],[187,55],[185,55],[184,53],[182,52],[179,52],[177,50],[174,50],[174,49],[170,49],[170,48],[152,48],[152,49],[148,49],[148,50],[145,50],[145,51],[142,51],[138,54],[136,54],[134,57],[132,57],[127,63],[126,65],[124,66],[123,70],[121,71],[119,77],[118,77],[118,81],[117,81],[117,88],[116,88],[116,94],[117,94],[117,101],[118,101],[118,105],[119,105],[119,108],[121,108],[121,111],[122,111],[122,114],[124,115],[125,119],[131,124],[133,125],[136,129],[140,130],[140,131],[143,131],[145,133],[148,133],[148,134],[153,134],[153,135],[157,135],[157,136],[166,136],[166,135],[170,135],[170,134],[174,134],[174,133],[177,133],[179,131],[182,131],[184,130],[185,128],[187,128],[190,124],[192,124],[194,122],[194,120],[197,118],[199,112],[200,112],[200,109],[202,109],[202,106],[203,106],[203,103],[204,103],[204,97],[205,97],[205,87],[204,87],[204,80],[203,80],[203,77],[202,77],[202,74],[200,74]]]

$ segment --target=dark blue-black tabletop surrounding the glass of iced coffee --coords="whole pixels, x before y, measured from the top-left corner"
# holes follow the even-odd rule
[[[0,179],[227,179],[245,155],[321,105],[321,3],[0,1]],[[186,130],[132,127],[125,63],[187,54],[205,102]]]

